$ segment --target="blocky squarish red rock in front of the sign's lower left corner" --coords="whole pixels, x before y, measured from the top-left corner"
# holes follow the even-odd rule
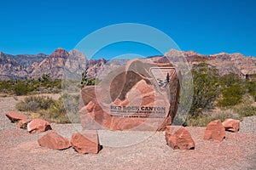
[[[82,133],[72,135],[71,144],[73,149],[79,153],[98,153],[100,144],[96,130],[86,130]]]

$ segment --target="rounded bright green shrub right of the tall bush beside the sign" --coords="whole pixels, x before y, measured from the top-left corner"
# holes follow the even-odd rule
[[[245,89],[238,83],[225,87],[222,91],[223,98],[218,101],[218,106],[224,107],[239,104],[245,93]]]

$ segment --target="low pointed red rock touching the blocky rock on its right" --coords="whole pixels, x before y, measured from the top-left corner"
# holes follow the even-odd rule
[[[55,131],[47,133],[42,138],[38,139],[38,144],[53,150],[65,150],[71,147],[69,140],[55,133]]]

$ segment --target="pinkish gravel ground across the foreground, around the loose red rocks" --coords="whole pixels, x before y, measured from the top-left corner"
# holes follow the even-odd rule
[[[18,101],[20,99],[23,97]],[[44,133],[29,134],[17,129],[5,114],[14,111],[18,101],[13,97],[0,98],[0,169],[256,169],[256,116],[245,118],[240,132],[227,132],[221,143],[203,140],[205,127],[188,127],[195,140],[195,150],[172,150],[166,145],[164,133],[157,132],[138,144],[103,146],[97,155],[82,155],[73,148],[49,150],[40,147],[37,140]],[[78,124],[51,126],[69,139],[80,128]],[[132,134],[134,137],[141,133]],[[112,135],[99,131],[101,144],[106,145]],[[126,136],[128,134],[124,133],[123,138]],[[136,139],[125,140],[128,141],[125,145],[129,145]]]

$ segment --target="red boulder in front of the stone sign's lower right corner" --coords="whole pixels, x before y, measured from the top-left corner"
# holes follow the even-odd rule
[[[191,138],[189,131],[185,127],[179,127],[178,130],[172,128],[171,126],[166,127],[166,143],[173,150],[195,149],[195,141]]]

